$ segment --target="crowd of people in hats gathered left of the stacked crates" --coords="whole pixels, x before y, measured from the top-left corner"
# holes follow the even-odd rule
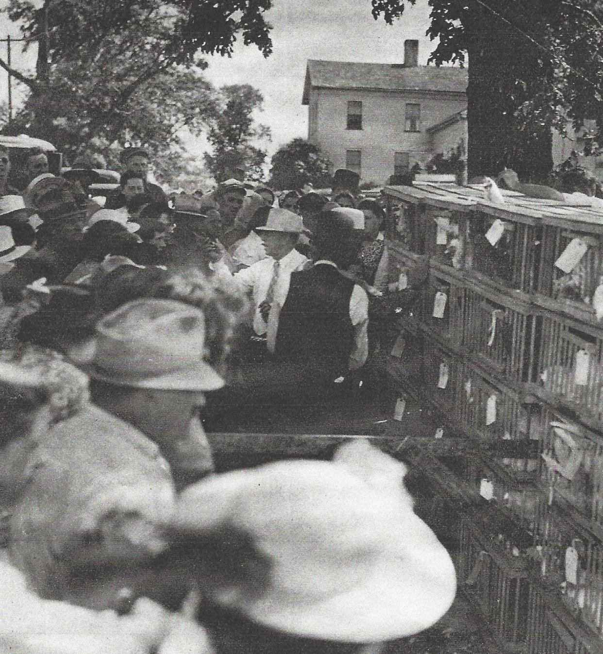
[[[216,474],[203,427],[357,385],[398,289],[383,208],[350,171],[330,196],[233,169],[168,197],[143,148],[122,162],[103,201],[40,152],[16,190],[0,150],[0,650],[343,653],[429,627],[455,575],[403,464],[353,441]]]

